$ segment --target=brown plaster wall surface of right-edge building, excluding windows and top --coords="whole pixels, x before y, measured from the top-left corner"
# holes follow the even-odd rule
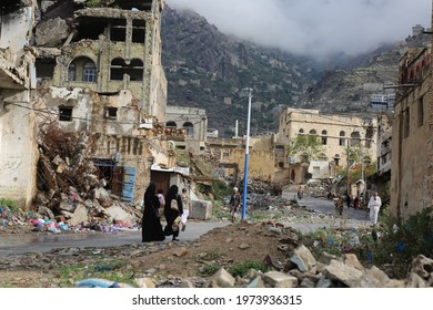
[[[407,91],[395,105],[392,126],[391,213],[393,217],[407,219],[410,215],[432,205],[431,173],[432,132],[429,128],[430,79]],[[419,101],[424,102],[424,125],[419,126]],[[405,117],[409,111],[409,132]],[[429,143],[430,142],[430,143]]]

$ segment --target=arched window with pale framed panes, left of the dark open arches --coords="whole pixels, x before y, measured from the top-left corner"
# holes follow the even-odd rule
[[[78,56],[69,64],[67,79],[69,82],[95,83],[97,72],[97,64],[90,58]]]

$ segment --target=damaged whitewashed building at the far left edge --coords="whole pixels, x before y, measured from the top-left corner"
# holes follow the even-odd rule
[[[6,0],[0,7],[0,197],[28,206],[36,193],[38,149],[30,108],[34,55],[26,46],[36,3]]]

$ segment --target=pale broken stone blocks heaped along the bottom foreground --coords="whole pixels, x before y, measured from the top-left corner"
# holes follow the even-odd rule
[[[268,226],[272,234],[283,234],[286,228]],[[276,231],[276,230],[280,230]],[[433,287],[433,259],[423,255],[417,256],[405,279],[392,279],[374,265],[365,268],[354,254],[336,257],[324,254],[316,260],[312,252],[292,234],[284,234],[279,242],[279,250],[284,252],[285,261],[273,260],[266,256],[264,265],[272,267],[272,271],[262,272],[250,269],[243,277],[233,277],[228,269],[220,268],[209,278],[170,278],[158,279],[147,277],[135,279],[135,283],[143,288],[154,287],[200,287],[200,288],[425,288]],[[290,236],[290,235],[289,235]],[[241,247],[241,245],[239,246]],[[173,256],[182,257],[189,248],[177,248]]]

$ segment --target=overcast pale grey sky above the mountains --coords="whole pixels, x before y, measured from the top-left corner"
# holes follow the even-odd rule
[[[356,54],[430,28],[431,0],[165,0],[223,33],[302,54]]]

